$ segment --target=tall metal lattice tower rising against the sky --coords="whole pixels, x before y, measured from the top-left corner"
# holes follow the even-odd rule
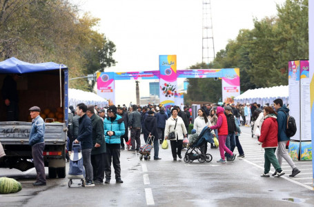
[[[211,18],[210,0],[203,0],[203,38],[202,62],[210,63],[215,59],[213,21]]]

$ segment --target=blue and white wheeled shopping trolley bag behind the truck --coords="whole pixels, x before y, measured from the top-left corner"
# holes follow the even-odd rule
[[[81,184],[79,186],[85,187],[85,170],[83,167],[83,158],[81,154],[81,144],[76,144],[74,141],[72,143],[72,152],[70,155],[70,168],[68,172],[68,186],[69,188],[73,184],[73,179],[80,179]]]

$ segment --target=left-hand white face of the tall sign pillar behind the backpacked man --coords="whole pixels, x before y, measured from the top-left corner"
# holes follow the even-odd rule
[[[291,139],[300,141],[300,61],[288,62],[289,115],[295,118],[297,132]]]

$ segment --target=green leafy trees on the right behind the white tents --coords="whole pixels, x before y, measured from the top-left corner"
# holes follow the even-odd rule
[[[253,88],[287,85],[288,61],[308,59],[307,6],[308,0],[286,0],[282,6],[277,5],[276,17],[265,17],[260,21],[253,19],[254,28],[240,30],[236,39],[228,41],[226,48],[217,52],[209,66],[240,68],[242,92]],[[203,64],[196,66],[201,65]],[[189,80],[193,84],[188,87],[186,99],[216,102],[217,95],[208,92],[209,88],[204,90],[207,81],[208,79]],[[221,86],[216,93],[221,97]]]

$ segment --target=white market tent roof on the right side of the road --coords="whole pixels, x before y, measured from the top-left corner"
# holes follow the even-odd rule
[[[284,104],[289,103],[289,87],[274,86],[271,88],[255,88],[246,90],[238,97],[235,97],[235,103],[259,103],[262,106],[265,103],[273,103],[275,99],[282,99]]]

